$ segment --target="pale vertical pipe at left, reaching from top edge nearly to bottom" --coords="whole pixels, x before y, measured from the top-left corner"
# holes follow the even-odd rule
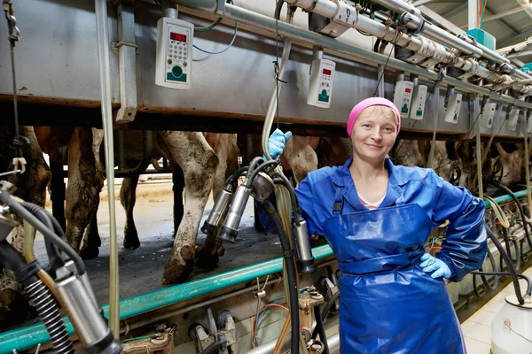
[[[95,0],[96,32],[98,42],[98,63],[100,75],[100,100],[102,127],[106,147],[107,195],[114,196],[114,154],[113,154],[113,112],[111,112],[111,73],[109,68],[109,29],[106,0]],[[114,337],[120,330],[118,247],[114,198],[109,198],[109,327]]]

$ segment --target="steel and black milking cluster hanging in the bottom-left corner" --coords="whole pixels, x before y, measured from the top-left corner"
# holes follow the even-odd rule
[[[56,353],[74,353],[73,343],[66,332],[59,313],[64,310],[74,326],[76,335],[89,353],[115,354],[121,352],[121,342],[114,339],[107,327],[103,312],[90,287],[82,258],[65,241],[59,222],[41,206],[12,196],[14,186],[0,181],[0,262],[11,269],[43,320]],[[15,250],[6,239],[18,222],[13,216],[24,220],[24,256]],[[50,273],[43,270],[35,259],[33,242],[35,229],[44,236]],[[59,306],[58,306],[59,305]]]

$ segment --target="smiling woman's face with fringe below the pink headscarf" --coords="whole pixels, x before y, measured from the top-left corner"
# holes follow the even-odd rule
[[[360,112],[353,127],[353,156],[380,163],[392,150],[396,137],[395,113],[383,106],[368,107]]]

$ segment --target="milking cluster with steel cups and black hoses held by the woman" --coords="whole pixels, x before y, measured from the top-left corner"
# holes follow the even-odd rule
[[[283,257],[286,261],[292,323],[292,350],[293,352],[299,352],[300,318],[297,309],[300,305],[298,304],[297,272],[293,260],[294,258],[296,259],[299,273],[314,273],[317,271],[317,266],[310,250],[307,223],[301,217],[297,196],[286,176],[276,171],[278,164],[278,159],[264,161],[263,158],[254,158],[248,166],[242,167],[236,173],[233,173],[227,179],[225,188],[217,197],[215,205],[201,230],[209,235],[219,230],[218,238],[224,242],[235,242],[240,219],[246,209],[249,196],[253,196],[257,202],[262,204],[262,208],[270,216],[273,225],[278,231]],[[245,176],[245,179],[235,188],[240,176]],[[276,185],[286,188],[290,195],[290,202],[293,207],[292,232],[290,235],[286,235],[278,211],[269,200]],[[233,190],[235,190],[234,194]],[[318,326],[321,326],[321,322],[318,322]],[[322,342],[326,342],[326,339],[322,339]],[[315,345],[315,343],[310,343],[307,348],[312,345]]]

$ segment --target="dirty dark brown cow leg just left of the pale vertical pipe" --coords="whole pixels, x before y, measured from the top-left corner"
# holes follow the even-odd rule
[[[102,130],[76,128],[68,145],[66,239],[74,250],[80,250],[85,228],[98,209],[104,185],[104,169],[99,162],[102,138]]]

